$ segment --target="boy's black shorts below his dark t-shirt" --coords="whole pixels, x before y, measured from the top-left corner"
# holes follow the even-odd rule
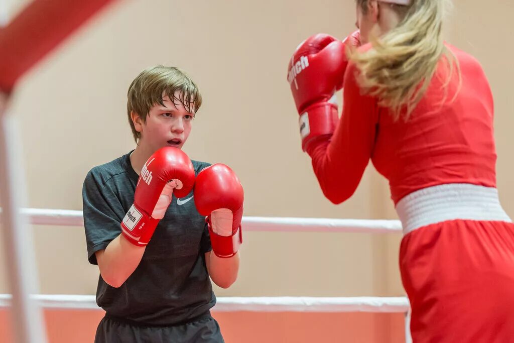
[[[225,343],[210,314],[174,326],[147,326],[108,315],[98,325],[95,343]]]

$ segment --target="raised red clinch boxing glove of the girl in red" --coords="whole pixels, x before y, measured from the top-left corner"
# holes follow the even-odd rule
[[[343,86],[349,45],[360,45],[359,31],[342,42],[328,34],[315,34],[298,46],[289,62],[287,81],[300,114],[303,151],[315,138],[332,135],[336,129],[335,93]]]

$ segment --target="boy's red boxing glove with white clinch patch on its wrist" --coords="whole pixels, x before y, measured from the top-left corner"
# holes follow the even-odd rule
[[[145,246],[166,213],[173,192],[183,197],[193,189],[195,172],[188,155],[174,147],[157,150],[146,161],[137,180],[134,204],[121,222],[123,236]]]

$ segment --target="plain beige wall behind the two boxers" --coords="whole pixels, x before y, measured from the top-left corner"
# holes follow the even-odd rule
[[[455,1],[448,40],[483,63],[496,101],[498,184],[514,214],[510,181],[512,2]],[[134,147],[126,89],[145,67],[181,67],[204,105],[185,151],[231,166],[245,215],[394,219],[389,189],[370,165],[351,200],[323,196],[301,151],[286,82],[292,51],[308,35],[343,38],[353,1],[124,1],[104,11],[20,84],[12,103],[23,134],[30,207],[81,209],[87,171]],[[45,125],[45,129],[43,126]],[[34,227],[40,292],[94,294],[83,228]],[[402,295],[398,234],[247,232],[240,278],[218,295]],[[0,269],[0,293],[8,292]]]

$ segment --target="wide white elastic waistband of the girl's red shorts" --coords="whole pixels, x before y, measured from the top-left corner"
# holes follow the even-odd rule
[[[449,220],[511,222],[498,198],[498,190],[471,184],[427,187],[401,198],[396,212],[407,234],[422,226]]]

